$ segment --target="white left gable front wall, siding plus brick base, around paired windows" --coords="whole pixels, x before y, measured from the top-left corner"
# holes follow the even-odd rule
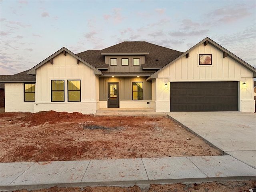
[[[51,80],[64,80],[64,102],[51,102]],[[68,80],[80,80],[81,102],[68,102]],[[98,77],[89,66],[70,54],[59,54],[54,64],[47,62],[36,70],[36,102],[34,112],[54,110],[94,114],[98,99]]]

